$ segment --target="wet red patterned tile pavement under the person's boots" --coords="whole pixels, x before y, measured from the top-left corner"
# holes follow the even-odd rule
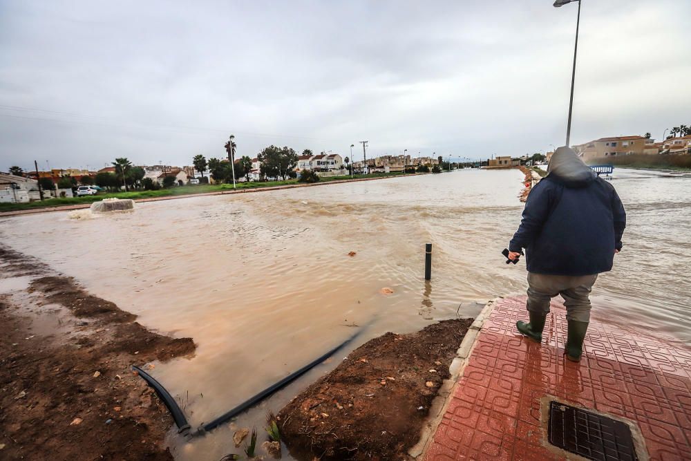
[[[495,303],[425,460],[562,459],[542,429],[547,396],[634,422],[650,460],[691,460],[691,350],[593,320],[574,364],[561,305],[542,344],[518,335],[519,319],[524,297]]]

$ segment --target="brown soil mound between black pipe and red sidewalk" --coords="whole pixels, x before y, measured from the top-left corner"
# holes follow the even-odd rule
[[[407,459],[471,323],[446,320],[408,335],[386,333],[354,350],[278,413],[291,454]]]

